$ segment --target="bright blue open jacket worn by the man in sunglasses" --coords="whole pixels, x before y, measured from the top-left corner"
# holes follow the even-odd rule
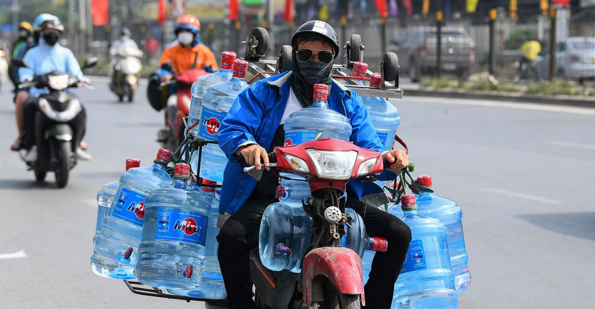
[[[234,152],[240,145],[248,141],[256,142],[265,149],[270,148],[275,131],[287,106],[291,81],[292,73],[287,72],[255,82],[238,95],[221,123],[217,139],[229,161],[223,174],[223,187],[221,188],[220,225],[242,207],[252,194],[257,182],[244,173]],[[328,104],[331,109],[349,119],[352,126],[350,140],[353,144],[362,148],[385,151],[368,116],[368,111],[355,91],[350,91],[339,82],[333,81]],[[377,178],[393,180],[395,177],[392,171],[386,170]],[[356,195],[358,198],[373,193],[372,196],[375,196],[377,201],[382,197],[384,197],[383,202],[386,200],[382,189],[374,183],[352,180],[348,187],[348,193]]]

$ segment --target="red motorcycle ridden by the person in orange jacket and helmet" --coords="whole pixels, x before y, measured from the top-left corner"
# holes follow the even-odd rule
[[[209,74],[203,69],[190,68],[183,73],[176,73],[171,68],[171,63],[164,63],[163,69],[174,72],[173,78],[162,82],[161,87],[175,87],[176,95],[168,95],[165,108],[165,128],[157,133],[157,141],[161,146],[170,151],[175,151],[185,138],[184,119],[190,111],[192,101],[192,84],[199,77]],[[167,91],[169,93],[169,91]]]

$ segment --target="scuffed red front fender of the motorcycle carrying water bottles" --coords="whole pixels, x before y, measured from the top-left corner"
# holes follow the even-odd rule
[[[343,247],[322,247],[310,251],[303,260],[303,301],[323,301],[324,284],[330,281],[342,294],[364,298],[362,260],[355,251]]]

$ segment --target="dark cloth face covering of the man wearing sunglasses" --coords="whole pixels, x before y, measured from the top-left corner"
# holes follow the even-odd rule
[[[333,62],[324,64],[309,60],[302,62],[293,53],[292,89],[302,107],[311,106],[314,101],[314,84],[327,84],[330,91]]]

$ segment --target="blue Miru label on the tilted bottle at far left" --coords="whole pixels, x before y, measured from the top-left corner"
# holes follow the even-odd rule
[[[115,196],[117,199],[111,215],[142,227],[146,195],[123,187]]]

